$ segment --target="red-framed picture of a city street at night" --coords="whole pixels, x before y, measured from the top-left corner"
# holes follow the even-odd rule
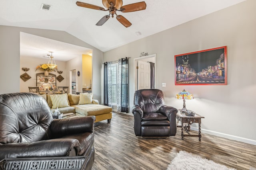
[[[175,85],[227,85],[227,46],[174,56]]]

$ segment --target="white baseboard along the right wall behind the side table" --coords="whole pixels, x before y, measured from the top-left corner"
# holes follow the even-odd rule
[[[197,127],[190,127],[190,129],[194,130],[194,131],[198,131]],[[224,138],[231,139],[231,140],[234,140],[234,141],[239,141],[239,142],[244,142],[244,143],[256,145],[256,141],[252,140],[252,139],[247,139],[247,138],[238,137],[238,136],[234,136],[234,135],[228,135],[228,134],[225,134],[225,133],[210,131],[210,130],[206,130],[206,129],[201,129],[201,132],[202,133],[207,133],[209,135],[215,135],[215,136],[218,136],[218,137],[224,137]]]

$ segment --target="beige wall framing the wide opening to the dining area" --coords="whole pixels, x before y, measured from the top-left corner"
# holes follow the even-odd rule
[[[0,25],[0,94],[20,92],[20,32],[30,33],[33,35],[38,35],[41,37],[92,49],[92,84],[94,85],[94,99],[101,99],[101,80],[99,75],[101,74],[103,61],[102,51],[66,33],[65,31],[10,27],[3,25]],[[82,67],[82,62],[80,63]],[[82,69],[80,68],[80,71],[81,70]],[[69,80],[67,80],[67,82],[69,82]]]

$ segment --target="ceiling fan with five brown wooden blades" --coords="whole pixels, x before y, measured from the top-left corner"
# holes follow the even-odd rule
[[[96,25],[98,25],[98,26],[103,25],[110,18],[110,15],[112,18],[114,18],[114,14],[116,14],[116,11],[134,12],[134,11],[140,11],[140,10],[146,9],[146,3],[144,1],[122,6],[123,5],[122,0],[102,0],[102,4],[107,8],[106,10],[100,6],[87,4],[85,2],[80,2],[80,1],[76,2],[77,6],[109,12],[109,14],[107,16],[104,16],[103,18],[100,19],[100,21],[98,21],[96,23]],[[116,14],[116,19],[120,23],[122,23],[122,25],[124,25],[125,27],[130,27],[132,25],[132,23],[130,23],[130,21],[128,21],[126,18],[124,18],[121,15]]]

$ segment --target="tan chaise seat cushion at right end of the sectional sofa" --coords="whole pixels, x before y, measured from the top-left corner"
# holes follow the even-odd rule
[[[100,104],[86,104],[86,105],[76,105],[76,113],[81,115],[90,116],[90,115],[101,115],[104,113],[112,112],[112,108],[109,106],[104,106]]]

